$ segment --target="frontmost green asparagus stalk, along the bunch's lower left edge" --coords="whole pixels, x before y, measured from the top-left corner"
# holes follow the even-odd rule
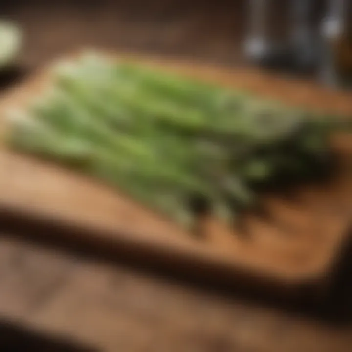
[[[182,226],[193,226],[194,216],[179,188],[160,190],[155,179],[145,178],[143,174],[133,175],[128,161],[116,158],[105,149],[92,148],[88,143],[46,129],[44,131],[24,125],[16,128],[11,140],[14,147],[78,167],[117,186]]]

